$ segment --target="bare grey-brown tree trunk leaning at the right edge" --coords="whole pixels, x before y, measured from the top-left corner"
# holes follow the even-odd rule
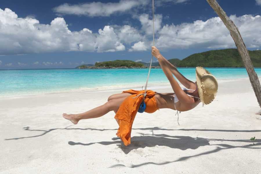
[[[244,41],[240,35],[240,32],[238,30],[238,28],[235,26],[235,24],[233,23],[233,21],[231,19],[229,19],[229,17],[227,17],[226,13],[224,12],[224,10],[219,6],[219,4],[217,3],[216,0],[206,0],[209,5],[215,10],[215,12],[218,14],[218,16],[220,17],[220,19],[223,21],[223,23],[225,24],[226,28],[229,30],[231,37],[233,38],[233,40],[235,41],[235,45],[238,48],[238,52],[242,58],[242,61],[244,63],[244,66],[247,69],[247,73],[252,85],[252,88],[255,92],[255,96],[258,100],[258,104],[261,107],[261,86],[260,86],[260,82],[258,79],[257,74],[255,73],[253,64],[250,60],[250,56],[249,56],[249,52],[244,44]],[[258,114],[258,113],[257,113]],[[261,113],[259,112],[259,115],[261,115]]]

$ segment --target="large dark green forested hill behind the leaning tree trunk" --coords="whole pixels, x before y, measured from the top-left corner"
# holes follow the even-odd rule
[[[249,51],[254,67],[261,67],[261,50]],[[190,55],[178,67],[244,67],[237,49],[211,50]]]

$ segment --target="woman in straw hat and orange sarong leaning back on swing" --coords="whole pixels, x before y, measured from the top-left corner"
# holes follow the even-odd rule
[[[152,55],[158,59],[160,66],[168,78],[174,93],[156,93],[151,90],[147,91],[148,95],[144,100],[147,105],[145,112],[147,111],[148,113],[152,113],[161,108],[187,111],[195,108],[200,102],[203,104],[209,104],[213,101],[217,93],[218,82],[216,78],[207,70],[202,67],[197,67],[197,81],[193,82],[186,79],[186,77],[184,77],[175,66],[173,66],[160,54],[160,51],[155,46],[152,47]],[[180,83],[188,89],[182,89],[172,74],[175,75]],[[128,145],[130,143],[131,126],[138,107],[142,102],[143,96],[144,91],[124,91],[120,94],[111,95],[108,98],[108,102],[102,106],[80,114],[68,115],[64,113],[63,117],[73,122],[73,124],[77,124],[81,119],[101,117],[113,110],[115,113],[117,113],[115,119],[117,120],[120,128],[124,124],[128,127],[128,131],[125,133],[125,137],[123,136],[124,133],[119,133],[120,128],[117,133],[117,135],[120,136],[122,140],[125,138],[127,139],[126,141],[128,142],[124,142],[124,144]],[[135,97],[139,98],[139,102],[137,102],[138,99],[135,99]],[[132,109],[132,107],[136,107],[134,109],[135,111]],[[126,127],[122,130],[126,131]]]

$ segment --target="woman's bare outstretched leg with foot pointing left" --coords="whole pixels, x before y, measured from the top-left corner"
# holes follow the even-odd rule
[[[89,110],[87,112],[84,113],[80,113],[80,114],[63,114],[63,117],[65,119],[70,120],[71,122],[73,122],[73,124],[77,124],[79,122],[79,120],[81,119],[90,119],[90,118],[97,118],[97,117],[101,117],[105,114],[107,114],[108,112],[112,111],[112,110],[118,110],[120,104],[124,101],[124,99],[129,96],[130,94],[128,93],[122,93],[124,95],[122,95],[122,97],[117,97],[115,99],[110,99],[108,100],[108,102],[106,102],[105,104],[98,106],[92,110]],[[128,95],[126,95],[128,94]]]

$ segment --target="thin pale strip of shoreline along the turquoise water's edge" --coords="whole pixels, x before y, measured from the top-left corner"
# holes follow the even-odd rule
[[[261,76],[258,77],[259,79],[261,79]],[[218,83],[224,83],[224,82],[228,82],[228,81],[241,81],[241,80],[247,80],[249,79],[247,78],[236,78],[236,79],[218,79]],[[180,86],[182,86],[182,84],[178,81],[178,83],[180,84]],[[171,88],[169,83],[166,84],[148,84],[148,88],[149,89],[153,89],[153,88],[157,88],[157,89],[164,89],[164,88]],[[144,86],[143,86],[144,88]],[[62,94],[78,94],[78,93],[101,93],[101,92],[114,92],[114,91],[124,91],[124,90],[128,90],[128,89],[135,89],[135,90],[142,90],[142,86],[141,85],[137,85],[137,86],[133,86],[133,85],[129,85],[129,86],[122,86],[119,88],[108,88],[108,87],[104,87],[104,88],[90,88],[89,90],[87,89],[72,89],[72,90],[64,90],[61,92],[50,92],[50,93],[40,93],[40,94],[32,94],[32,95],[9,95],[9,96],[5,96],[5,97],[0,97],[0,101],[2,99],[17,99],[17,98],[26,98],[26,97],[37,97],[37,96],[45,96],[45,95],[62,95]]]

